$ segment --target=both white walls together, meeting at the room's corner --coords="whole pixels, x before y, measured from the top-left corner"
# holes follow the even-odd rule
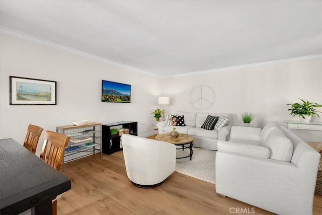
[[[146,136],[155,123],[150,112],[158,106],[158,95],[171,97],[170,111],[198,112],[189,101],[191,90],[198,85],[207,85],[215,93],[213,106],[202,112],[230,113],[232,125],[242,124],[239,114],[244,111],[256,115],[251,126],[263,127],[270,121],[284,125],[284,120],[298,120],[289,115],[286,106],[297,97],[322,103],[321,58],[158,79],[6,34],[0,36],[0,138],[12,137],[20,143],[28,124],[55,130],[81,119],[103,124],[138,121],[138,134]],[[57,105],[9,105],[9,76],[56,81]],[[131,103],[102,103],[102,80],[130,84]],[[322,121],[320,116],[312,121]],[[293,132],[305,141],[322,141],[319,131]]]

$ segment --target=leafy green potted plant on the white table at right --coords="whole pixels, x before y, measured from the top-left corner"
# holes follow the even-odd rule
[[[291,116],[298,115],[300,121],[302,122],[309,122],[313,115],[320,117],[316,112],[322,113],[321,111],[315,110],[317,107],[322,107],[315,102],[304,101],[303,99],[297,98],[303,102],[303,104],[293,103],[293,104],[286,104],[291,105],[291,108],[288,109],[291,111]]]

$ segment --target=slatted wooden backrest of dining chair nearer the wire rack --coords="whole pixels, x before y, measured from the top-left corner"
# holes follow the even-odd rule
[[[70,136],[54,131],[46,131],[40,158],[60,171],[61,161]]]

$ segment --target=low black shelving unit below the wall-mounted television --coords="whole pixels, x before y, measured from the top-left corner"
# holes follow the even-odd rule
[[[120,140],[121,136],[118,134],[111,134],[112,128],[127,128],[131,135],[137,136],[137,122],[126,121],[119,123],[109,123],[102,125],[102,152],[111,155],[117,151],[122,150]]]

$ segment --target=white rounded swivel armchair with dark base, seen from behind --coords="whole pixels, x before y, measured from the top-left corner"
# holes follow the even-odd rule
[[[176,146],[169,142],[122,135],[127,177],[141,188],[156,187],[176,169]]]

